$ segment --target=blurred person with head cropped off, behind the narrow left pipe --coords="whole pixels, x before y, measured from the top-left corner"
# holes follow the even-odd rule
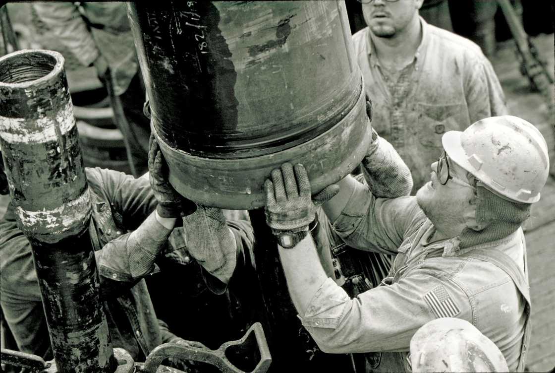
[[[145,89],[123,2],[37,2],[38,18],[83,66],[94,66],[123,134],[130,173],[147,171],[149,120]]]

